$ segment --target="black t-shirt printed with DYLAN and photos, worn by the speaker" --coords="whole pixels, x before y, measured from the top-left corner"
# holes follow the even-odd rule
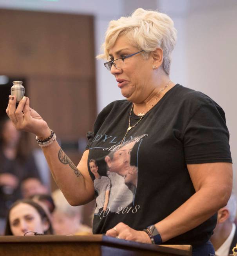
[[[131,107],[127,100],[110,103],[87,135],[92,180],[89,161],[94,159],[100,176],[111,182],[107,210],[99,205],[94,214],[94,233],[105,233],[119,222],[143,230],[161,221],[195,193],[187,164],[232,163],[224,111],[203,93],[176,84],[141,121],[132,112],[131,126],[139,123],[119,148]],[[103,197],[98,182],[96,187],[95,197]],[[203,243],[216,219],[214,215],[166,244]]]

